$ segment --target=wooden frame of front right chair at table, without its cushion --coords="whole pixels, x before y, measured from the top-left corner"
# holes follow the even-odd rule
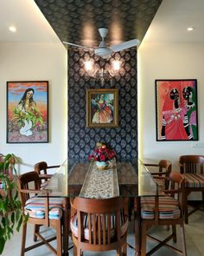
[[[179,207],[181,209],[181,217],[179,219],[167,219],[167,220],[161,220],[159,219],[159,196],[155,197],[155,219],[154,220],[147,220],[142,219],[140,215],[140,202],[137,200],[137,225],[140,223],[140,226],[137,226],[138,230],[141,230],[141,236],[138,236],[137,238],[137,255],[150,256],[152,253],[155,253],[159,248],[162,246],[167,246],[169,249],[172,249],[175,251],[175,253],[179,253],[183,256],[187,255],[186,251],[186,242],[185,242],[185,233],[184,233],[184,221],[183,221],[183,211],[182,211],[182,189],[184,185],[184,180],[182,178],[181,174],[172,172],[169,174],[169,177],[163,178],[169,180],[169,186],[170,189],[164,190],[163,193],[174,196],[175,194],[178,194],[178,201],[179,201]],[[179,187],[175,187],[179,185]],[[175,226],[179,225],[181,228],[181,238],[182,238],[182,251],[175,248],[174,246],[170,246],[167,244],[167,242],[171,239],[173,239],[174,242],[176,242],[176,228]],[[148,228],[150,226],[172,226],[172,233],[163,241],[157,240],[153,236],[150,236],[147,234]],[[146,240],[147,237],[149,237],[151,240],[154,240],[156,242],[159,242],[157,246],[155,246],[153,249],[150,250],[150,252],[146,253]]]

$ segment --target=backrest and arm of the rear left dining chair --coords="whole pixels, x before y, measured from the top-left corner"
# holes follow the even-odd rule
[[[41,179],[41,184],[43,186],[43,183],[45,181],[48,181],[52,177],[53,174],[48,174],[48,171],[50,169],[61,167],[60,165],[54,165],[54,166],[48,166],[48,163],[46,161],[39,161],[35,163],[34,170],[39,174],[39,177]],[[45,185],[45,184],[44,184]]]

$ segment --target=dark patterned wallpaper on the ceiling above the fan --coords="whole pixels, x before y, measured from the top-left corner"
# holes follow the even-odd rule
[[[96,46],[99,28],[107,43],[137,38],[142,42],[163,0],[35,0],[61,41]]]

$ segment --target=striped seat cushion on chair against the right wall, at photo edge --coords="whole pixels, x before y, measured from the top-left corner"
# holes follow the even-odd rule
[[[204,174],[182,174],[185,187],[204,187]]]

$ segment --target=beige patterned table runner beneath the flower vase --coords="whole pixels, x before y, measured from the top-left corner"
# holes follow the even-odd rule
[[[108,169],[99,170],[96,163],[90,163],[80,197],[105,199],[119,196],[116,162],[112,161]]]

